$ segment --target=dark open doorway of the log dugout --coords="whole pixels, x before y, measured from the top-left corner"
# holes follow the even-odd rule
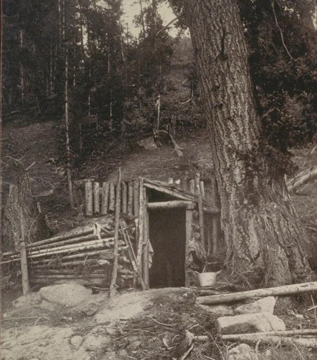
[[[149,238],[154,250],[150,287],[185,284],[185,209],[149,210]]]

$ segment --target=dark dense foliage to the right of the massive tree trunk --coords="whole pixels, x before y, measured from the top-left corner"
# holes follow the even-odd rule
[[[274,149],[310,141],[317,116],[315,3],[239,0],[263,137]]]

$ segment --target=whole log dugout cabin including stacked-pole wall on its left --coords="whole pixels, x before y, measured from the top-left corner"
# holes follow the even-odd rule
[[[31,283],[63,283],[107,288],[114,259],[116,184],[77,181],[85,188],[91,225],[26,244]],[[216,185],[195,179],[168,182],[122,181],[117,285],[122,288],[189,286],[219,247]],[[97,216],[97,217],[96,217]],[[2,254],[2,266],[20,265],[22,252]],[[4,271],[6,272],[6,271]]]

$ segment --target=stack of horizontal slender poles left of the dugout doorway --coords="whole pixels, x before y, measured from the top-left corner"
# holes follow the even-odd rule
[[[114,258],[114,219],[108,215],[98,220],[91,226],[27,243],[30,282],[63,283],[72,279],[82,285],[108,287]],[[125,218],[120,220],[120,225],[117,285],[130,287],[136,279],[130,259],[136,222]],[[20,265],[20,252],[3,253],[1,264],[5,273],[10,272]]]

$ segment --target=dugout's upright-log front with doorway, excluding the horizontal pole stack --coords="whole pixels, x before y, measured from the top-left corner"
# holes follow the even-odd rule
[[[86,215],[114,212],[116,184],[85,182]],[[136,220],[136,264],[147,288],[189,286],[219,247],[215,178],[121,183],[122,214]]]

